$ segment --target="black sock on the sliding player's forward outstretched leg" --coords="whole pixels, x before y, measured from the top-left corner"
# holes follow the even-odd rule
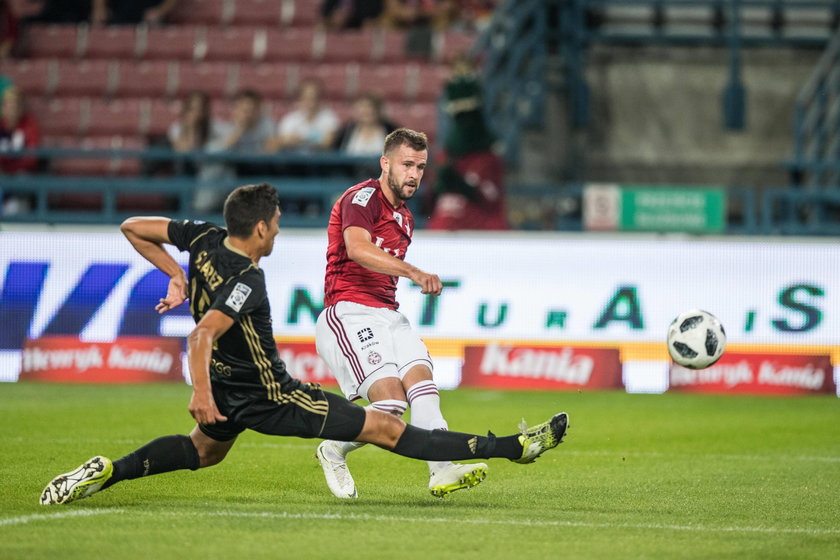
[[[492,432],[487,432],[486,436],[477,436],[445,430],[421,430],[409,425],[391,451],[425,461],[493,457],[518,459],[522,456],[522,444],[519,443],[519,436],[496,437]]]

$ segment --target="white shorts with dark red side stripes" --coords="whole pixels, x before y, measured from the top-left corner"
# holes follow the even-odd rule
[[[417,364],[432,369],[426,345],[399,311],[340,301],[321,312],[315,346],[350,400],[367,397],[374,381],[403,376]]]

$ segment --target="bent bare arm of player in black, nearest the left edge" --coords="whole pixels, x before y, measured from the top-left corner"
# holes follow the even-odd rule
[[[165,313],[181,305],[187,299],[187,277],[172,255],[163,248],[169,240],[169,218],[137,216],[128,218],[120,226],[134,249],[169,276],[169,288],[166,297],[160,300],[155,309]]]

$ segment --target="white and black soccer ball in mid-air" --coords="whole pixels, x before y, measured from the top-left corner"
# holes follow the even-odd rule
[[[668,327],[668,353],[683,367],[707,368],[720,359],[725,346],[723,325],[706,311],[680,313]]]

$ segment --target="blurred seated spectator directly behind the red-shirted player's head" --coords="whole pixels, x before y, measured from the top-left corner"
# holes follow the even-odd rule
[[[382,114],[382,99],[365,93],[353,102],[353,114],[332,136],[331,146],[349,155],[379,156],[385,137],[396,129]]]

